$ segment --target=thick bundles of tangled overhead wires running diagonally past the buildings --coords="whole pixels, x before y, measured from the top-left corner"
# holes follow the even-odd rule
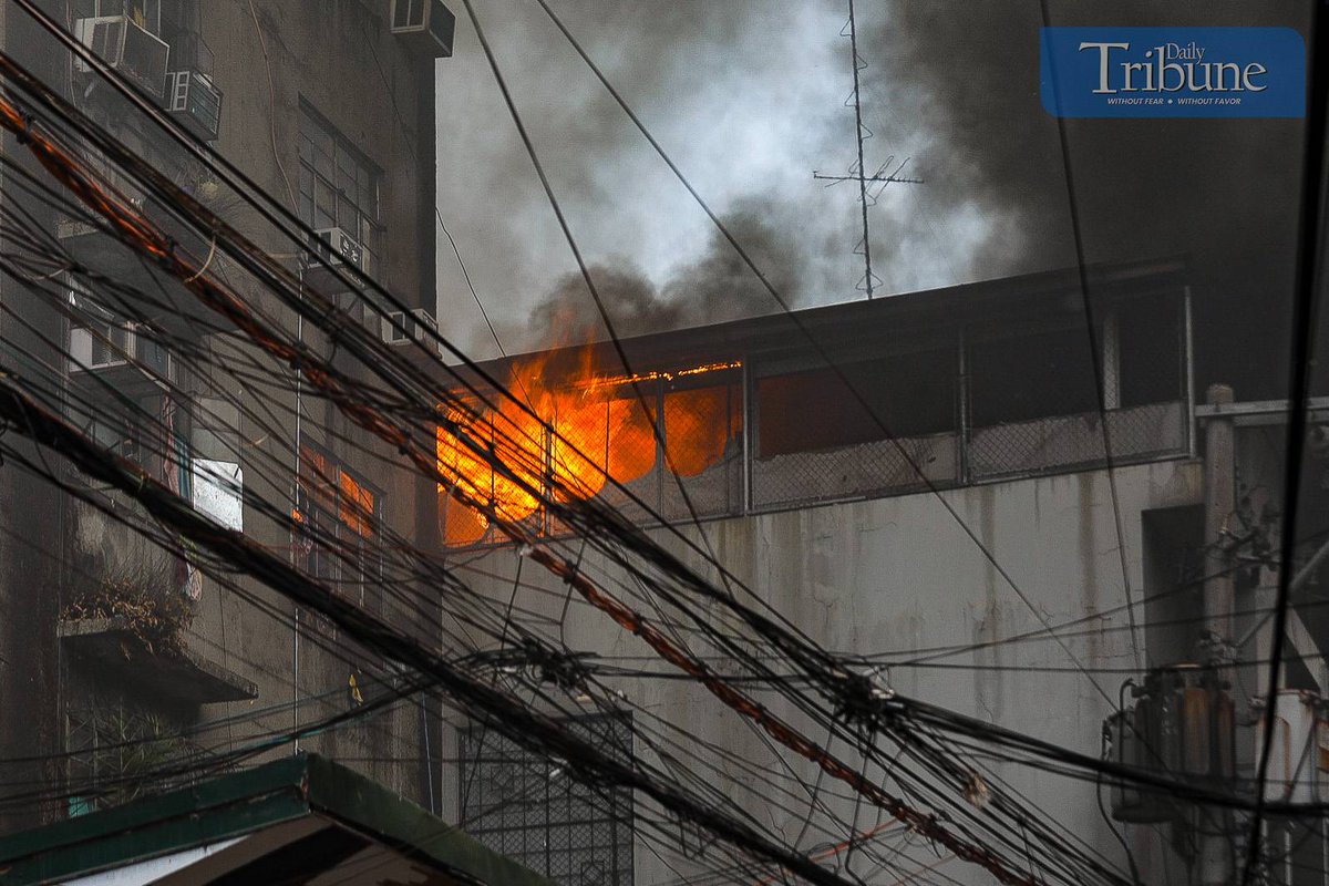
[[[76,52],[85,52],[69,45]],[[89,57],[89,64],[98,62]],[[0,125],[27,139],[32,155],[81,205],[84,217],[101,224],[128,250],[150,262],[162,278],[169,278],[171,286],[195,299],[205,308],[201,312],[203,328],[217,333],[225,331],[233,348],[247,351],[235,363],[221,360],[187,336],[173,335],[161,323],[153,325],[152,311],[170,307],[173,302],[169,296],[154,302],[149,294],[145,299],[144,292],[124,282],[64,260],[56,247],[36,235],[23,244],[27,259],[7,256],[9,264],[5,270],[13,279],[36,286],[40,280],[31,270],[58,267],[61,272],[81,279],[98,296],[116,299],[133,312],[136,323],[144,323],[159,340],[178,348],[199,367],[218,368],[218,364],[231,363],[226,372],[237,376],[247,373],[247,379],[264,384],[279,384],[282,380],[268,368],[271,365],[299,373],[302,384],[308,385],[314,397],[328,404],[354,426],[359,434],[358,445],[484,513],[521,549],[525,561],[538,565],[577,595],[583,606],[575,611],[577,618],[593,614],[607,616],[655,658],[706,689],[727,712],[736,715],[744,728],[752,729],[763,741],[779,745],[768,747],[772,747],[772,758],[780,765],[789,766],[791,772],[796,772],[795,765],[807,766],[843,785],[841,790],[847,793],[836,801],[843,801],[841,805],[852,808],[855,814],[857,804],[868,802],[893,817],[909,834],[986,869],[1001,882],[1126,882],[1110,861],[1076,842],[1075,836],[1066,833],[1059,822],[1009,793],[998,780],[962,761],[945,737],[964,736],[995,743],[1019,749],[1030,758],[1051,758],[1069,768],[1099,772],[1088,768],[1088,761],[1062,753],[1063,749],[1055,747],[1025,741],[1021,736],[979,728],[894,695],[876,675],[859,671],[860,663],[823,650],[783,615],[760,603],[759,594],[728,575],[723,565],[691,539],[684,539],[688,550],[723,580],[711,580],[704,573],[688,567],[682,558],[605,502],[569,494],[569,487],[558,486],[557,476],[545,477],[540,465],[530,464],[530,446],[521,438],[520,428],[496,428],[489,422],[485,428],[488,434],[477,433],[482,418],[477,402],[510,401],[529,412],[520,392],[485,377],[482,369],[473,364],[468,368],[482,384],[474,381],[476,376],[462,376],[444,365],[437,360],[437,345],[452,345],[428,331],[405,331],[420,345],[416,360],[385,348],[381,340],[363,328],[346,323],[336,306],[306,286],[299,275],[292,275],[280,262],[227,226],[12,60],[0,58],[0,73],[32,106],[29,110],[21,108],[17,100],[0,101]],[[112,76],[110,72],[102,73]],[[182,222],[193,232],[194,251],[202,252],[206,246],[206,256],[194,255],[185,238],[169,234],[161,223],[162,218],[120,199],[96,170],[80,162],[77,146],[82,142],[113,158],[118,169],[149,190],[166,207],[162,218]],[[308,242],[311,231],[284,213],[279,203],[264,199],[237,170],[198,145],[189,145],[189,149],[197,151],[201,162],[245,195],[292,243]],[[28,185],[40,187],[32,179]],[[74,210],[78,211],[78,207]],[[17,224],[17,219],[9,221]],[[21,230],[21,224],[17,228]],[[327,270],[367,304],[401,307],[372,280],[346,267],[331,266]],[[262,298],[242,292],[226,279],[227,272],[243,274]],[[268,306],[303,317],[312,331],[326,336],[338,360],[315,344],[292,337]],[[420,359],[420,353],[428,355],[431,348],[435,356]],[[355,368],[346,369],[347,363],[342,357],[354,363]],[[440,385],[440,379],[448,384]],[[201,519],[181,495],[158,484],[142,464],[97,445],[78,428],[61,420],[52,408],[58,401],[58,384],[16,372],[0,379],[0,391],[4,392],[0,413],[17,433],[64,454],[101,482],[112,484],[145,507],[154,521],[197,545],[202,567],[214,578],[239,573],[263,580],[300,607],[327,618],[355,643],[423,675],[431,691],[445,693],[455,704],[482,716],[512,740],[532,751],[574,761],[579,776],[589,781],[642,792],[667,814],[704,828],[736,851],[750,855],[750,861],[773,862],[809,882],[844,882],[809,853],[743,818],[740,804],[722,806],[703,800],[699,790],[684,789],[684,778],[672,776],[664,766],[618,761],[578,741],[557,719],[521,704],[512,693],[496,689],[473,672],[480,664],[518,668],[529,683],[541,691],[548,689],[554,699],[560,695],[585,695],[598,704],[613,704],[614,697],[598,679],[591,654],[569,650],[541,632],[552,623],[562,627],[566,610],[561,619],[541,620],[537,612],[521,611],[514,618],[510,606],[505,611],[501,603],[476,594],[462,578],[462,570],[447,558],[436,551],[420,551],[419,546],[399,539],[401,555],[388,561],[391,578],[400,582],[393,592],[397,614],[432,615],[429,607],[437,603],[457,620],[460,648],[480,646],[474,638],[462,636],[465,628],[474,630],[484,642],[498,643],[496,650],[474,648],[460,660],[445,659],[417,639],[401,634],[391,619],[375,618],[350,603],[310,570],[284,563],[243,535]],[[501,477],[521,494],[538,498],[554,519],[569,527],[569,535],[577,539],[578,546],[532,534],[518,521],[510,519],[501,502],[485,498],[473,485],[459,482],[456,473],[437,458],[435,440],[440,426],[469,458],[488,465],[493,476]],[[542,432],[557,433],[548,424],[542,425]],[[569,445],[573,446],[573,442],[569,441]],[[37,464],[28,462],[28,466],[41,470]],[[276,465],[268,465],[268,470],[275,472]],[[288,502],[276,499],[255,501],[253,506],[311,549],[328,551],[347,566],[355,565],[352,554],[339,545],[340,539],[311,527],[299,507],[292,514]],[[364,517],[363,513],[354,515]],[[589,566],[579,550],[581,543],[599,554],[603,562]],[[622,570],[631,580],[615,578],[611,570]],[[377,580],[392,586],[383,576]],[[703,614],[699,604],[712,607],[712,611]],[[512,646],[506,646],[509,639]],[[712,667],[703,652],[722,656],[734,672]],[[657,728],[662,732],[650,736],[650,747],[663,760],[664,727]],[[808,737],[823,728],[827,741]],[[847,748],[857,747],[863,733],[873,740],[860,752],[861,758],[847,760],[844,757],[849,754],[836,751],[836,743]],[[694,753],[700,747],[694,744]],[[1096,758],[1092,762],[1100,764]],[[1123,768],[1111,774],[1123,781],[1142,777]],[[687,773],[687,777],[698,778],[696,773]],[[731,777],[731,782],[738,781]],[[791,786],[795,781],[803,785],[803,780],[793,777],[788,781]],[[1170,786],[1185,789],[1180,784]],[[750,788],[754,793],[759,789]],[[1192,796],[1212,802],[1237,802],[1232,797],[1205,796],[1204,792],[1192,792]],[[819,802],[813,790],[809,805]],[[860,832],[851,814],[828,812],[824,818],[824,834],[836,838],[848,834],[851,842],[857,840]],[[839,833],[832,833],[832,829],[839,829]]]

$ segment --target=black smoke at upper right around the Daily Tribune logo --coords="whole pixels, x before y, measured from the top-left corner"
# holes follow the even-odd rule
[[[1053,25],[1284,25],[1308,4],[1049,4]],[[868,20],[869,106],[920,158],[940,211],[998,224],[981,276],[1075,262],[1057,122],[1041,106],[1038,3],[896,3]],[[1302,120],[1069,120],[1086,258],[1191,260],[1197,379],[1285,396]]]

